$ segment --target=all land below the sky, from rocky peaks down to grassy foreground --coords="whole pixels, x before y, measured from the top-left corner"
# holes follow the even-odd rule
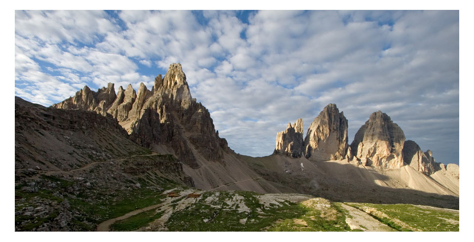
[[[300,119],[273,155],[238,155],[180,64],[151,90],[85,86],[49,108],[15,97],[15,231],[459,230],[459,166],[381,111],[351,145],[347,123],[329,104],[306,138]]]

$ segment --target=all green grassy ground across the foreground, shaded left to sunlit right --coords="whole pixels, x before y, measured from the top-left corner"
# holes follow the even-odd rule
[[[351,230],[346,218],[352,218],[352,215],[342,208],[341,203],[321,198],[289,202],[285,198],[292,195],[189,190],[190,188],[158,177],[153,172],[148,173],[145,179],[138,177],[124,182],[128,184],[125,186],[127,189],[80,189],[76,193],[71,192],[77,186],[74,179],[56,176],[40,176],[42,189],[35,192],[22,189],[32,186],[32,183],[19,184],[15,187],[15,211],[21,211],[15,216],[15,225],[19,228],[17,230],[37,231],[45,224],[67,215],[70,216],[67,226],[71,230],[94,231],[97,224],[103,221],[161,204],[157,208],[119,220],[110,229],[147,230],[149,224],[161,218],[161,227],[152,226],[152,230],[361,231]],[[140,182],[141,187],[136,187],[137,182]],[[155,188],[158,183],[160,189]],[[180,194],[180,197],[167,197],[165,190],[168,189],[175,189],[173,192]],[[201,195],[189,198],[189,193]],[[38,204],[48,204],[55,209],[42,210]],[[457,210],[411,204],[346,204],[370,214],[397,231],[459,231]],[[164,214],[169,215],[169,218],[163,217]],[[360,228],[365,227],[360,225]]]

